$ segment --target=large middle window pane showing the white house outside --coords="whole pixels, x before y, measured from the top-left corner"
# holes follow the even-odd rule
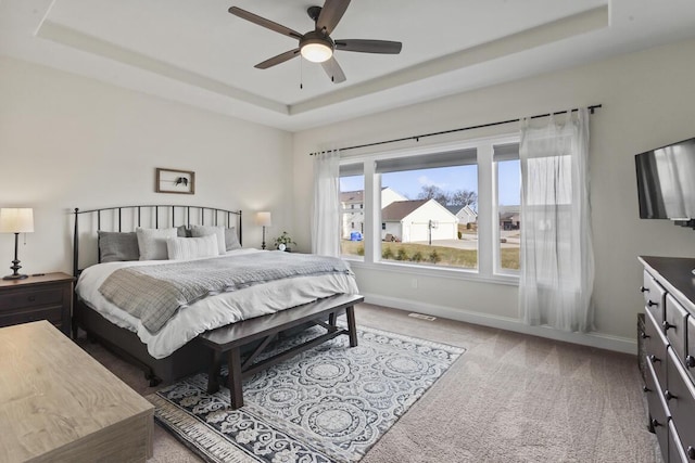
[[[381,259],[478,267],[476,149],[377,160]]]

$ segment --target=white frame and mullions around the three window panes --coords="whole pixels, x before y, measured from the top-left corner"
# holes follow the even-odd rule
[[[365,253],[364,256],[343,255],[342,257],[350,260],[351,266],[355,268],[388,270],[396,273],[421,276],[452,278],[511,285],[518,284],[519,272],[501,269],[500,265],[497,170],[496,163],[493,160],[493,146],[506,143],[518,143],[519,140],[518,132],[503,133],[426,146],[346,155],[342,157],[340,159],[341,165],[363,165],[362,175],[364,176],[365,185],[363,195]],[[381,208],[378,207],[378,205],[381,204],[381,175],[376,171],[377,162],[468,149],[477,149],[478,153],[476,160],[476,165],[478,166],[478,268],[438,267],[427,263],[381,260],[381,240],[379,236],[381,236],[382,221],[380,214]],[[486,233],[484,236],[483,232]],[[494,246],[494,243],[497,243],[497,246]]]

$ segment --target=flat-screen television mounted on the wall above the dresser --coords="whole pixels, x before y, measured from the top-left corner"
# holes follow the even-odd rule
[[[640,218],[695,223],[695,138],[634,157]]]

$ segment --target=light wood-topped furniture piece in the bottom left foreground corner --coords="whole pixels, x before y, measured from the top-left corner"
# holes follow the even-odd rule
[[[153,406],[47,321],[0,329],[0,462],[144,462]]]

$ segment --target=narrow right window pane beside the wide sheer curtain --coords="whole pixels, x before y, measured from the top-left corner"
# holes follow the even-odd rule
[[[519,144],[494,146],[496,171],[496,206],[498,222],[497,269],[519,270],[519,246],[521,239],[521,164]]]

